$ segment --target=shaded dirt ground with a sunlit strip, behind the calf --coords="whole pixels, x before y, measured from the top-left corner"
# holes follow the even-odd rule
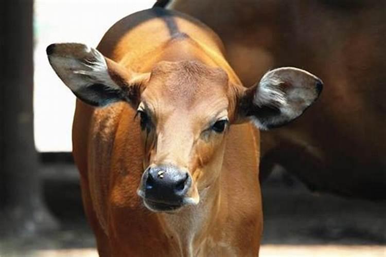
[[[45,193],[61,230],[33,238],[2,238],[0,256],[97,256],[83,217],[77,177],[47,179]],[[279,171],[265,181],[262,194],[260,257],[386,257],[385,202],[310,193]]]

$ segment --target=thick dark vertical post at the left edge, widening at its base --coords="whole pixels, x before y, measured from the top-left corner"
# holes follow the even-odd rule
[[[33,140],[33,0],[5,0],[0,9],[0,233],[31,235],[57,228]]]

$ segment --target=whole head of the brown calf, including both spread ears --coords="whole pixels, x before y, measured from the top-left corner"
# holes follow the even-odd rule
[[[264,130],[283,125],[322,90],[320,79],[291,67],[271,70],[244,88],[220,67],[199,61],[160,62],[136,74],[83,44],[50,45],[47,54],[83,102],[103,107],[126,101],[136,109],[145,149],[137,192],[152,211],[199,203],[200,192],[219,177],[231,124],[252,121]]]

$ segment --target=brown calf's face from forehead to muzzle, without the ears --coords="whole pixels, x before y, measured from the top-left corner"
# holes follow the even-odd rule
[[[229,127],[229,82],[200,62],[161,62],[137,108],[146,167],[138,194],[151,210],[197,204],[221,169]]]

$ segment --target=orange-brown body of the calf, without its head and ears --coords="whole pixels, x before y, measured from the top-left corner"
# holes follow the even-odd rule
[[[148,72],[160,61],[226,63],[216,35],[168,15],[152,9],[129,16],[107,32],[98,50],[138,72]],[[137,19],[141,25],[132,27]],[[178,31],[171,31],[168,22]],[[135,50],[127,51],[128,47]],[[205,203],[181,215],[152,213],[136,194],[144,146],[134,116],[127,103],[93,108],[77,101],[73,151],[99,251],[111,256],[256,256],[262,230],[258,131],[251,124],[231,128],[223,172],[205,192]],[[239,200],[243,198],[249,201]]]

